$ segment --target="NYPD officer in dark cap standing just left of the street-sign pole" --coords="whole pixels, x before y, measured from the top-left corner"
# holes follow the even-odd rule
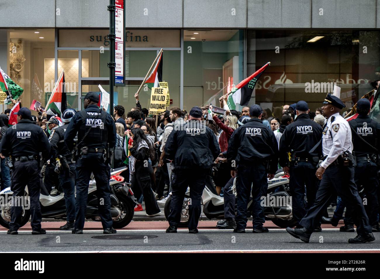
[[[108,158],[116,142],[116,127],[111,115],[97,106],[99,95],[89,92],[84,99],[84,109],[76,113],[65,132],[69,150],[78,133],[76,161],[75,224],[72,233],[83,233],[87,195],[91,172],[97,184],[98,208],[103,233],[116,233],[112,228],[111,199],[109,189],[110,168]],[[109,146],[107,146],[109,143]],[[107,148],[109,147],[109,148]]]

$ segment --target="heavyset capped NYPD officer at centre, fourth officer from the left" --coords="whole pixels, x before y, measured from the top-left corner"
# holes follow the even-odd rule
[[[198,233],[201,196],[212,162],[220,154],[219,144],[209,127],[201,123],[202,110],[193,107],[189,121],[170,133],[165,143],[166,158],[173,160],[171,213],[167,233],[176,233],[187,187],[190,187],[189,233]]]

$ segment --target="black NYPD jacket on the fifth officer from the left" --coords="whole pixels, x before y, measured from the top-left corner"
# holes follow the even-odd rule
[[[228,142],[227,161],[233,166],[270,161],[269,173],[277,171],[279,147],[277,140],[263,121],[251,118],[237,128]]]

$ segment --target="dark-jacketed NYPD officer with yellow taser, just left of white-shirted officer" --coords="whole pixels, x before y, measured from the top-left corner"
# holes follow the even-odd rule
[[[286,127],[279,147],[280,166],[285,173],[290,174],[289,189],[292,195],[293,219],[297,225],[306,214],[305,185],[309,207],[313,205],[318,189],[315,171],[321,150],[320,148],[312,149],[321,139],[322,127],[310,119],[309,112],[307,102],[297,102],[297,118]],[[321,230],[319,225],[314,229]]]

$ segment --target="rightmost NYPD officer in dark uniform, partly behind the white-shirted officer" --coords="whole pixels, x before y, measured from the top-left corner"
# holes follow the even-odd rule
[[[372,232],[378,232],[378,178],[377,178],[377,164],[379,164],[379,150],[380,150],[380,124],[372,120],[369,116],[371,103],[368,99],[359,99],[356,104],[356,112],[359,114],[357,118],[350,120],[352,132],[353,151],[356,156],[355,167],[355,184],[359,188],[364,186],[364,194],[366,194],[367,203],[364,203],[369,223],[372,227]],[[351,211],[346,209],[345,213],[345,226],[340,231],[353,231],[353,220],[351,218]],[[339,219],[323,218],[329,224],[337,226]]]

